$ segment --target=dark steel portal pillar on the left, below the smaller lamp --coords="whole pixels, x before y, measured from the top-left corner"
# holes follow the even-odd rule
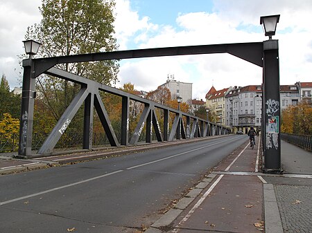
[[[33,138],[33,108],[35,104],[35,78],[33,59],[23,60],[23,87],[21,93],[21,116],[19,123],[19,156],[31,156]]]

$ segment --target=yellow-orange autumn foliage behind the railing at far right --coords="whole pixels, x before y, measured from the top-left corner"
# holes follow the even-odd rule
[[[311,122],[311,104],[301,102],[297,105],[290,105],[281,113],[281,132],[312,135]]]

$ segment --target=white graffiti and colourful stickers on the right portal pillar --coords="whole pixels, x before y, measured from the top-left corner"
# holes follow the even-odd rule
[[[266,101],[266,114],[268,122],[266,122],[266,149],[279,148],[279,102],[277,100]]]

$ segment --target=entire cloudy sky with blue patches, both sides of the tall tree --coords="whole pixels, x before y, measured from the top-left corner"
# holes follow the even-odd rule
[[[18,55],[26,29],[40,23],[41,0],[0,0],[0,75],[21,86]],[[261,42],[260,17],[281,15],[280,84],[312,82],[311,0],[116,0],[115,37],[119,50]],[[262,68],[228,54],[124,59],[116,87],[131,82],[152,91],[173,75],[193,83],[193,99],[205,99],[211,86],[259,85]]]

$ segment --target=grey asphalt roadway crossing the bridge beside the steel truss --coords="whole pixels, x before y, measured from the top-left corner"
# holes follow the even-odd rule
[[[139,232],[247,136],[0,176],[0,233]]]

